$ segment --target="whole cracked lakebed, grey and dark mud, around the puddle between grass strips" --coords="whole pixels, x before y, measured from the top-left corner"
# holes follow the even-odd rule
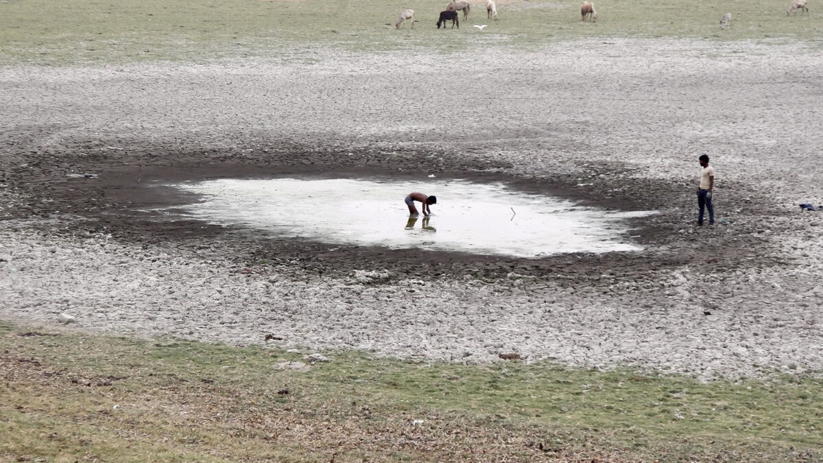
[[[460,362],[823,371],[823,213],[798,207],[823,202],[816,50],[304,54],[0,68],[0,316]],[[695,227],[704,153],[713,228]],[[430,174],[659,213],[632,223],[642,252],[506,259],[194,222],[174,207],[197,199],[164,186],[299,175],[412,190]]]

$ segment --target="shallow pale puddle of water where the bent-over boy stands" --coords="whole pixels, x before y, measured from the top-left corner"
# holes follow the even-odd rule
[[[277,236],[389,248],[453,250],[536,258],[565,252],[640,250],[625,218],[564,199],[500,184],[462,180],[208,180],[176,185],[202,195],[184,208],[193,218]],[[409,217],[412,191],[437,196],[430,217]],[[415,203],[420,209],[420,203]]]

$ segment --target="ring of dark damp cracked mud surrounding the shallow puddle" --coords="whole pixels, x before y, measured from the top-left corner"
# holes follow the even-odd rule
[[[15,143],[16,142],[16,143]],[[575,188],[578,180],[568,175],[534,178],[513,177],[510,166],[486,161],[472,154],[439,147],[416,147],[387,152],[379,146],[307,146],[258,139],[228,143],[230,148],[197,147],[197,143],[146,140],[77,140],[49,151],[30,149],[31,140],[16,138],[7,143],[9,156],[2,162],[0,179],[10,191],[25,198],[2,218],[53,217],[73,214],[86,222],[63,233],[82,236],[89,232],[111,233],[119,241],[150,244],[174,241],[204,259],[220,257],[250,269],[289,264],[295,272],[341,277],[353,269],[386,269],[393,278],[481,278],[495,281],[514,273],[537,278],[563,275],[563,285],[597,285],[601,274],[644,278],[660,269],[695,262],[712,262],[719,270],[736,269],[762,259],[765,241],[732,234],[701,243],[677,234],[692,227],[695,204],[683,194],[683,185],[638,180],[631,194],[611,194],[621,164],[587,167],[597,177],[588,189]],[[18,145],[15,147],[15,145]],[[432,156],[436,153],[437,156]],[[425,162],[421,162],[425,159]],[[149,209],[173,208],[196,200],[164,185],[184,180],[214,178],[307,177],[421,180],[435,172],[439,178],[463,178],[478,182],[504,182],[532,193],[554,194],[584,205],[617,210],[659,209],[663,213],[632,219],[633,236],[647,246],[643,252],[606,254],[576,253],[542,259],[515,259],[426,250],[392,250],[370,246],[339,246],[315,241],[278,239],[238,227],[219,227],[184,217],[164,216]],[[90,174],[87,178],[83,174]],[[71,174],[69,176],[67,174]],[[620,180],[625,182],[624,180]],[[154,185],[151,186],[150,185]],[[674,211],[674,212],[672,212]],[[61,232],[49,230],[49,232]],[[694,252],[679,250],[689,248]],[[718,259],[717,256],[721,256]]]

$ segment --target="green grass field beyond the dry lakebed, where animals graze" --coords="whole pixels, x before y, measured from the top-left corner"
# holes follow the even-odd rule
[[[811,14],[786,16],[788,0],[609,0],[595,2],[598,20],[582,23],[579,2],[500,2],[499,21],[478,2],[460,30],[438,30],[445,0],[2,0],[0,64],[204,62],[221,58],[277,58],[286,50],[311,53],[321,44],[349,51],[405,47],[465,51],[492,44],[529,49],[582,37],[686,37],[709,40],[819,41],[823,22]],[[394,22],[404,7],[416,11],[414,30]],[[725,12],[733,26],[721,30]],[[472,24],[490,24],[479,31]]]

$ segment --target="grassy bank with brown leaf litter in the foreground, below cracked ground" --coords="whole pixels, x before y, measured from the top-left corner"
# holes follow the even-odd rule
[[[0,460],[823,461],[820,380],[328,358],[2,324]]]

